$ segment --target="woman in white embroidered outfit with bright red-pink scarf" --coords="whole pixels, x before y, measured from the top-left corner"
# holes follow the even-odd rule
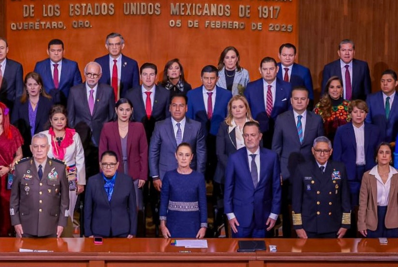
[[[67,112],[63,105],[54,105],[50,110],[50,128],[42,133],[49,139],[49,158],[62,160],[66,164],[69,183],[69,217],[73,222],[77,195],[86,184],[84,151],[80,136],[67,127]]]

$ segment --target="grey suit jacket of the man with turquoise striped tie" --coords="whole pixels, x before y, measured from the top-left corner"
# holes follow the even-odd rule
[[[314,139],[324,135],[322,117],[307,111],[304,130],[304,140],[301,144],[293,110],[282,113],[276,119],[272,150],[278,154],[281,161],[283,180],[294,173],[299,163],[314,158],[311,151]]]

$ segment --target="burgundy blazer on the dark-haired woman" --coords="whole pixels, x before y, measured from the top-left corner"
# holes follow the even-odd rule
[[[117,171],[124,173],[122,142],[117,120],[105,123],[102,128],[99,138],[99,159],[101,159],[101,154],[106,150],[112,150],[116,153],[119,161]],[[128,175],[133,180],[148,180],[148,142],[144,125],[141,122],[129,122],[127,156]]]

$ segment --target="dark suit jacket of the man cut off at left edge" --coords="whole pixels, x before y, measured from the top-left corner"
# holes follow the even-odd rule
[[[23,68],[19,62],[7,58],[3,73],[0,102],[6,104],[12,114],[14,102],[19,99],[23,91]]]

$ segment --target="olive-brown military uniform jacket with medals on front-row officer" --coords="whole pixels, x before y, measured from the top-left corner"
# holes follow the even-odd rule
[[[68,208],[69,188],[64,163],[47,158],[41,181],[33,158],[17,163],[10,199],[12,225],[22,224],[24,234],[56,234],[58,225],[66,227]]]

